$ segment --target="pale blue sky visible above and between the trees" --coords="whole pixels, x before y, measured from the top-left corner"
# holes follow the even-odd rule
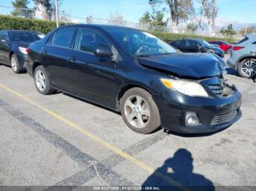
[[[138,22],[146,11],[151,11],[148,0],[61,0],[60,10],[67,14],[71,12],[74,17],[87,17],[108,19],[110,13],[124,16],[128,22]],[[0,6],[12,6],[12,1],[1,0]],[[33,4],[30,5],[33,7]],[[217,25],[229,23],[256,23],[256,0],[217,0],[219,13]],[[10,12],[0,7],[0,14]]]

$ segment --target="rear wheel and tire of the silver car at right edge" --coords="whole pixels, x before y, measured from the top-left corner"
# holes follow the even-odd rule
[[[256,75],[256,59],[246,58],[238,64],[238,73],[241,77],[250,78]]]

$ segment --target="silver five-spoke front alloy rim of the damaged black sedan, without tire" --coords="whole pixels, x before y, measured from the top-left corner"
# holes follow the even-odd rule
[[[131,95],[127,98],[124,102],[124,114],[135,128],[146,127],[151,116],[148,103],[140,95]]]

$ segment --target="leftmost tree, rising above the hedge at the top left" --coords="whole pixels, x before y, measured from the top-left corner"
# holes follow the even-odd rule
[[[29,1],[28,0],[16,0],[12,1],[12,6],[15,7],[11,14],[13,16],[20,16],[20,17],[31,17],[32,11],[29,10],[28,7]]]

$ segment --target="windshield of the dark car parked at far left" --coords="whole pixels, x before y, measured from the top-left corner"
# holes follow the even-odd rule
[[[42,39],[42,37],[42,34],[30,33],[25,31],[12,31],[10,33],[10,38],[12,41],[35,42],[39,39]]]

